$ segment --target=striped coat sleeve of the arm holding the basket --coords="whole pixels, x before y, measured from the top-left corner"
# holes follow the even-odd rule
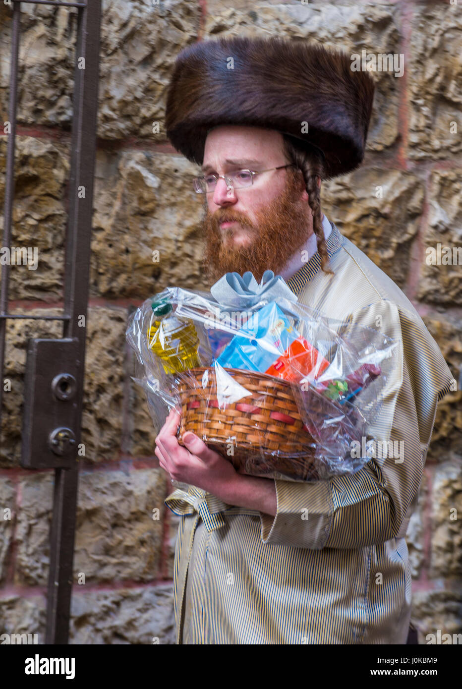
[[[347,320],[400,342],[372,437],[391,440],[402,459],[372,458],[354,474],[319,482],[275,480],[277,512],[260,513],[265,544],[296,548],[359,548],[402,537],[417,505],[437,402],[452,374],[423,321],[388,300],[354,311]]]

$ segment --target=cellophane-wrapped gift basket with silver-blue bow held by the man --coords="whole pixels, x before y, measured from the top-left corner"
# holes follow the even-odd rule
[[[151,417],[181,414],[252,476],[292,481],[353,473],[370,460],[397,342],[302,305],[281,276],[227,273],[210,292],[167,287],[129,317],[127,341]]]

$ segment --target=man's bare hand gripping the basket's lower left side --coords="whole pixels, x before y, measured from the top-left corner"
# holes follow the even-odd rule
[[[183,435],[182,447],[176,438],[179,424],[178,411],[171,409],[155,440],[154,454],[160,466],[172,479],[221,497],[225,487],[229,489],[239,478],[238,473],[231,462],[209,449],[195,433],[188,431]]]

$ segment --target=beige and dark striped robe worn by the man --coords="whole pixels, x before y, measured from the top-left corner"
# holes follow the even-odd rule
[[[314,254],[288,285],[303,304],[399,340],[374,438],[403,441],[403,462],[353,475],[274,480],[275,517],[195,486],[165,504],[180,525],[174,560],[177,644],[406,644],[411,572],[406,529],[448,365],[412,304],[331,223],[329,267]],[[380,464],[380,466],[379,466]],[[308,508],[308,520],[302,514]],[[306,512],[305,512],[306,513]]]

